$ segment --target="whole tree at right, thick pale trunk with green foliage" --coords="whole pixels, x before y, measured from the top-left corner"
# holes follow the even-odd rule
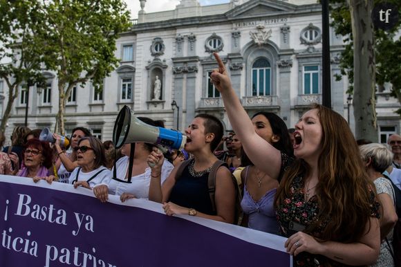
[[[332,26],[335,28],[335,33],[343,35],[345,42],[348,42],[342,52],[340,68],[342,68],[342,75],[348,75],[350,80],[351,86],[348,93],[354,94],[356,138],[371,140],[377,140],[376,84],[382,87],[385,82],[391,82],[393,85],[391,94],[397,97],[401,103],[401,75],[399,74],[401,71],[401,37],[395,38],[395,33],[400,31],[401,25],[399,22],[389,32],[378,29],[373,31],[371,9],[374,4],[380,2],[382,1],[330,1],[330,15],[333,18]],[[397,5],[398,10],[401,8],[398,0],[387,0],[386,2]],[[363,41],[360,35],[355,35],[355,31],[358,30],[365,32],[362,35]],[[374,42],[370,41],[369,43],[369,40],[372,39],[368,35],[373,35]],[[364,54],[357,55],[360,52],[364,52]],[[364,66],[361,65],[360,57],[368,60],[363,62]],[[369,81],[366,77],[369,78]]]

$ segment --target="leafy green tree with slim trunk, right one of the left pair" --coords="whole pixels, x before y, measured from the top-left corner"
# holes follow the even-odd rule
[[[129,12],[122,0],[43,1],[44,26],[37,34],[46,68],[58,78],[59,110],[55,132],[64,134],[66,100],[77,84],[95,88],[117,66],[115,40],[129,29]]]

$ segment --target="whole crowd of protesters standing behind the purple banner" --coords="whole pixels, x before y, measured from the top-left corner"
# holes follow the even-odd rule
[[[221,121],[203,113],[185,129],[181,150],[143,142],[115,149],[84,127],[73,129],[69,145],[57,134],[49,144],[39,140],[40,129],[16,127],[12,145],[0,153],[0,174],[71,183],[93,190],[101,202],[110,194],[149,199],[170,216],[241,222],[287,237],[294,266],[395,266],[393,184],[401,189],[401,136],[391,135],[388,145],[357,142],[346,120],[319,104],[292,129],[274,113],[250,118],[215,57],[211,81],[232,125],[226,136]],[[4,140],[0,134],[0,146]]]

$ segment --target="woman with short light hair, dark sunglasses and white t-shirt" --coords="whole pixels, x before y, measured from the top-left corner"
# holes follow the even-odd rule
[[[93,136],[83,137],[74,147],[77,155],[77,165],[71,172],[69,183],[92,189],[100,183],[108,184],[111,177],[109,169],[104,167],[106,156],[102,141]]]

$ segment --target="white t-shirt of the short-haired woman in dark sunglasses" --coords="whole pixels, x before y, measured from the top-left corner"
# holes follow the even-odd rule
[[[78,174],[78,170],[80,173]],[[102,172],[100,172],[102,171]],[[77,176],[78,175],[78,176]],[[70,178],[68,178],[68,183],[74,183],[75,180],[77,181],[89,181],[89,185],[93,188],[95,185],[99,185],[100,183],[108,184],[111,180],[111,172],[104,166],[100,166],[97,169],[94,169],[91,172],[83,172],[81,167],[76,167],[73,172],[71,172]]]

